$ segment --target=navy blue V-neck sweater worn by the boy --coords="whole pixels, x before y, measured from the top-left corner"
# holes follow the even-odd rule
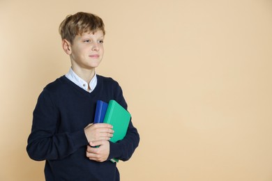
[[[95,162],[86,157],[84,127],[93,123],[96,101],[116,100],[127,109],[119,84],[111,78],[97,77],[98,84],[91,93],[62,76],[48,84],[38,97],[27,152],[31,159],[46,160],[46,180],[119,180],[116,164],[109,160],[128,160],[139,144],[139,134],[130,121],[125,138],[109,142],[107,161]]]

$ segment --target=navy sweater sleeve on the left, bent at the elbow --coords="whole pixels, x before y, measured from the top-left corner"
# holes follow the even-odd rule
[[[75,152],[88,141],[84,129],[56,134],[60,113],[45,88],[38,97],[33,111],[33,123],[27,152],[34,160],[62,159]]]

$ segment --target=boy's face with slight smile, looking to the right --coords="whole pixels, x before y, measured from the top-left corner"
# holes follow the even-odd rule
[[[98,30],[96,33],[88,32],[75,36],[72,45],[68,42],[72,68],[92,70],[98,67],[104,54],[103,40],[103,31]]]

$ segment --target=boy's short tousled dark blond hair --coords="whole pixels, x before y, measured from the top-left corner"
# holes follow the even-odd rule
[[[75,15],[68,15],[66,19],[59,25],[59,33],[61,39],[66,39],[73,43],[75,36],[82,35],[82,33],[93,32],[101,30],[105,36],[105,26],[103,20],[97,15],[91,13],[79,12]]]

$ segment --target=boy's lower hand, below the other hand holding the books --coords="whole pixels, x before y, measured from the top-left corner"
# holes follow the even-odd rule
[[[98,146],[98,148],[95,148]],[[109,157],[109,141],[99,140],[87,145],[86,157],[96,162],[104,162]]]

